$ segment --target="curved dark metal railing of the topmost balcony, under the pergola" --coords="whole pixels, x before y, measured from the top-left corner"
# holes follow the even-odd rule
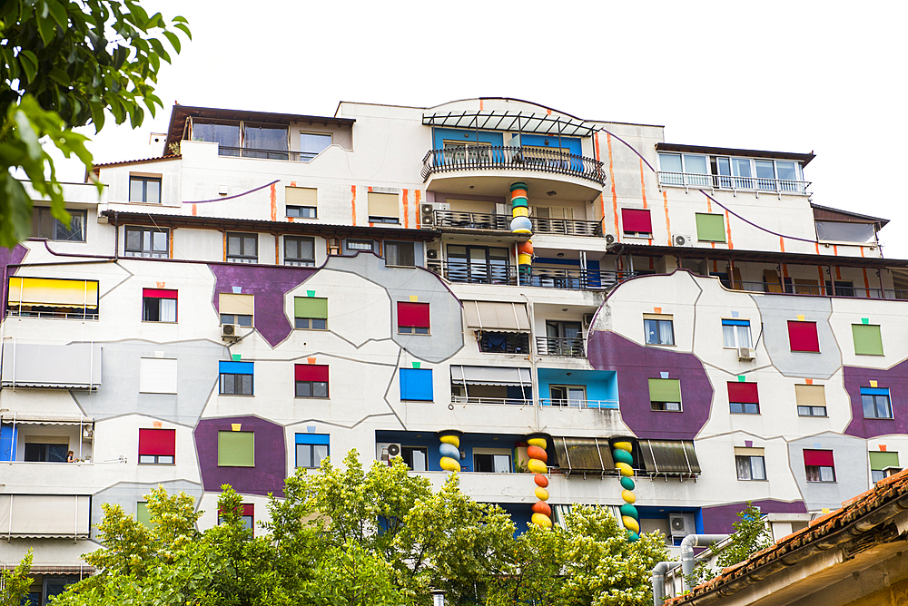
[[[422,180],[451,171],[538,171],[570,175],[599,185],[606,182],[602,162],[559,150],[504,145],[469,145],[429,150],[422,159]]]

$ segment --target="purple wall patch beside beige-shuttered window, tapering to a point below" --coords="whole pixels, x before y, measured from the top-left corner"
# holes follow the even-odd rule
[[[234,287],[241,287],[244,295],[255,295],[255,329],[271,347],[277,347],[293,330],[284,313],[284,295],[318,271],[242,263],[211,263],[208,267],[217,278],[212,298],[214,308],[218,308],[218,295],[222,292],[232,293]]]

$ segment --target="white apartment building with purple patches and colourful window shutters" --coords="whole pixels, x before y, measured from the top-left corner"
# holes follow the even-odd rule
[[[0,560],[35,549],[33,600],[91,572],[102,503],[147,520],[163,484],[213,525],[232,484],[253,524],[352,448],[440,485],[456,436],[463,490],[524,527],[541,438],[555,523],[633,498],[668,544],[901,468],[908,261],[812,201],[812,153],[511,99],[175,105],[162,139],[0,251]]]

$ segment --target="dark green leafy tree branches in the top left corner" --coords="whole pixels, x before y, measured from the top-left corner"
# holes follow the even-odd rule
[[[31,231],[32,194],[13,171],[21,169],[35,193],[69,221],[53,145],[85,165],[87,138],[72,129],[104,126],[109,111],[133,128],[163,103],[154,94],[162,61],[181,49],[175,30],[191,37],[183,17],[167,24],[138,0],[5,0],[0,3],[0,245],[12,248]],[[101,185],[98,184],[99,191]]]

